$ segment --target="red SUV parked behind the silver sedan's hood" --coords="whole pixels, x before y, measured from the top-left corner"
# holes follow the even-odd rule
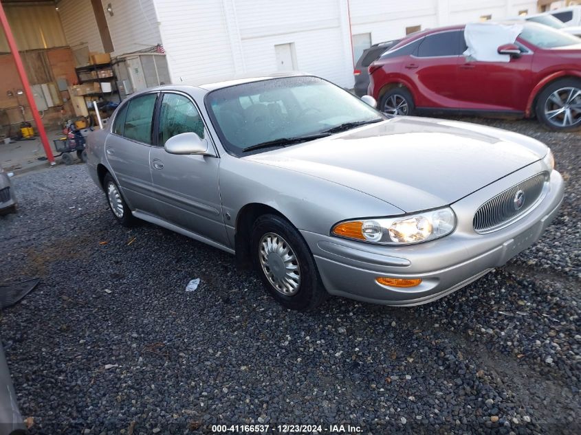
[[[411,34],[369,66],[369,95],[393,115],[424,111],[534,115],[553,130],[581,128],[581,39],[522,23],[509,62],[463,56],[464,26]]]

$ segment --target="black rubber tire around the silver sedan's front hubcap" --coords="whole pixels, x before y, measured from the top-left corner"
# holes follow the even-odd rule
[[[278,239],[279,243],[286,244],[289,247],[289,254],[292,254],[296,258],[296,263],[298,263],[298,276],[300,277],[300,281],[298,288],[295,290],[296,293],[292,295],[283,294],[280,288],[275,287],[267,277],[267,272],[265,272],[265,268],[262,265],[261,240],[270,234],[283,239],[282,241]],[[264,214],[256,219],[252,227],[250,252],[254,267],[256,267],[268,293],[279,304],[292,310],[310,311],[316,309],[322,302],[325,302],[328,293],[322,287],[315,261],[307,243],[305,243],[298,231],[281,216]],[[293,264],[295,263],[293,262]],[[287,269],[285,269],[285,273],[287,273]]]

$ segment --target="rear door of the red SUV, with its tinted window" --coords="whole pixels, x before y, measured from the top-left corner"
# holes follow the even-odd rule
[[[403,74],[418,88],[417,107],[457,107],[461,30],[445,30],[426,36],[404,63]]]

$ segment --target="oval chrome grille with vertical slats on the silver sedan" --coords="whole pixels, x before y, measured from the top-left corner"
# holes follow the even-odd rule
[[[540,199],[548,179],[547,172],[541,172],[483,203],[474,214],[472,220],[474,230],[481,234],[492,232],[520,219]],[[524,197],[522,205],[518,208],[516,197],[520,191]]]

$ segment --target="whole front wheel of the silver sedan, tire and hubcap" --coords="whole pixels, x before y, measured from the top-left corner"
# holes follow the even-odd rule
[[[313,256],[297,230],[275,214],[256,219],[252,257],[267,291],[288,309],[316,309],[327,297]]]

